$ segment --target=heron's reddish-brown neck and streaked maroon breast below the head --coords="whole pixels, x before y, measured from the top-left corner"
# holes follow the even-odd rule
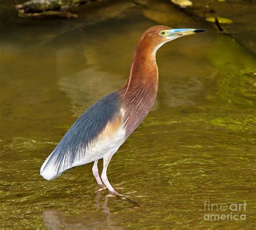
[[[130,77],[120,90],[121,104],[125,111],[126,138],[147,116],[154,104],[158,89],[156,51],[138,44],[133,55]]]

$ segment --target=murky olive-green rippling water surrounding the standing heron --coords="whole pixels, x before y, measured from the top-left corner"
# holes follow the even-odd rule
[[[113,187],[140,206],[97,192],[92,164],[39,176],[77,117],[124,85],[139,36],[159,23],[146,17],[159,15],[153,7],[100,6],[78,9],[87,13],[77,21],[2,19],[1,228],[254,229],[255,56],[175,8],[166,25],[208,31],[158,51],[157,102],[109,167]],[[246,220],[205,220],[231,212],[205,211],[205,201],[246,201],[233,211]]]

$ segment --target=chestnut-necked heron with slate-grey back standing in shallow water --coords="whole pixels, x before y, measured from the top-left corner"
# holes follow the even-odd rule
[[[69,168],[93,162],[92,174],[98,185],[121,196],[107,178],[107,167],[114,153],[142,123],[156,100],[157,50],[171,40],[204,31],[172,29],[165,25],[147,29],[137,43],[125,86],[99,99],[75,121],[44,161],[40,170],[42,177],[55,179]],[[100,159],[103,159],[101,176],[97,166]]]

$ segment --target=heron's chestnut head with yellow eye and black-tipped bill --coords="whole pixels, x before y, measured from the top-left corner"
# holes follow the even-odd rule
[[[140,37],[140,45],[151,47],[155,52],[161,45],[170,42],[179,37],[194,35],[195,33],[204,32],[201,29],[172,29],[164,25],[156,25],[147,29]]]

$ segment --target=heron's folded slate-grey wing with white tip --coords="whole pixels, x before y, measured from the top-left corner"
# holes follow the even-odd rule
[[[40,174],[50,180],[73,167],[74,162],[86,154],[86,147],[90,146],[92,141],[97,140],[99,133],[119,111],[120,103],[117,92],[98,100],[66,132],[55,150],[45,160]]]

